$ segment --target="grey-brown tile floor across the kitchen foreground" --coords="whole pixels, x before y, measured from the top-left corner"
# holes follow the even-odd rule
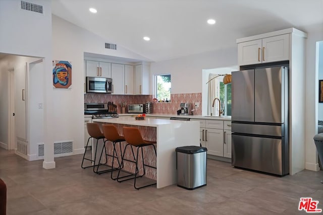
[[[55,169],[26,161],[0,148],[0,178],[7,184],[8,215],[52,214],[306,214],[300,197],[318,200],[323,209],[323,171],[304,170],[275,177],[208,160],[207,186],[176,185],[135,190],[110,173],[81,169],[81,155],[56,158]]]

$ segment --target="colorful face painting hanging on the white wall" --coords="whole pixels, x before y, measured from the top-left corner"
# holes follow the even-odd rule
[[[52,84],[55,88],[69,88],[72,85],[72,64],[69,61],[53,60]]]

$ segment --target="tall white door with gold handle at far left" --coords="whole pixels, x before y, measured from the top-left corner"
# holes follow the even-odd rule
[[[15,126],[16,136],[27,141],[27,113],[26,113],[26,72],[27,63],[15,68]]]

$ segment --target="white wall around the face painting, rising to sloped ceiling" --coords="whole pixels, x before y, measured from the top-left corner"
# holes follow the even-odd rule
[[[117,50],[106,49],[105,42],[110,41],[52,16],[53,59],[72,62],[71,89],[53,90],[55,141],[73,140],[74,154],[84,152],[84,52],[146,60],[118,44]]]

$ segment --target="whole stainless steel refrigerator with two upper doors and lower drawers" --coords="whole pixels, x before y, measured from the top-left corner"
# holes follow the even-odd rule
[[[289,173],[288,67],[232,72],[232,132],[233,166]]]

